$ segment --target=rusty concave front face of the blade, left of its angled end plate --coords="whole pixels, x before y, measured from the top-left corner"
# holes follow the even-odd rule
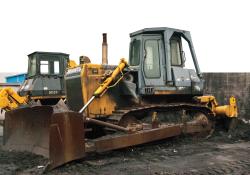
[[[49,157],[49,125],[53,108],[25,107],[5,113],[4,148]]]

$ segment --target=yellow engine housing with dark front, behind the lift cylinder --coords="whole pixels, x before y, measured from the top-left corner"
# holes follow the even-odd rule
[[[112,70],[111,67],[97,64],[83,64],[80,67],[70,69],[65,77],[69,108],[73,111],[79,111],[99,87],[105,72],[110,70]],[[115,102],[116,94],[109,91],[101,98],[96,98],[84,111],[88,117],[96,118],[112,114],[117,104]]]

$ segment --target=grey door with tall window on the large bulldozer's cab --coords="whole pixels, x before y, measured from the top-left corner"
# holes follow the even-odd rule
[[[163,41],[160,35],[143,36],[142,75],[146,87],[164,86]]]

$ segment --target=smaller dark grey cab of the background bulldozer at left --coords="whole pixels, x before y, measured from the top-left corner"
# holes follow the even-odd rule
[[[19,94],[29,95],[44,104],[54,104],[65,98],[64,73],[69,55],[58,52],[34,52],[28,57],[27,78]]]

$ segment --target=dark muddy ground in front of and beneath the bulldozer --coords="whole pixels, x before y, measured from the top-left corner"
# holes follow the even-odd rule
[[[0,137],[2,139],[2,137]],[[1,140],[0,140],[1,141]],[[47,160],[0,147],[0,175],[42,174]],[[45,174],[250,174],[250,126],[95,154]]]

